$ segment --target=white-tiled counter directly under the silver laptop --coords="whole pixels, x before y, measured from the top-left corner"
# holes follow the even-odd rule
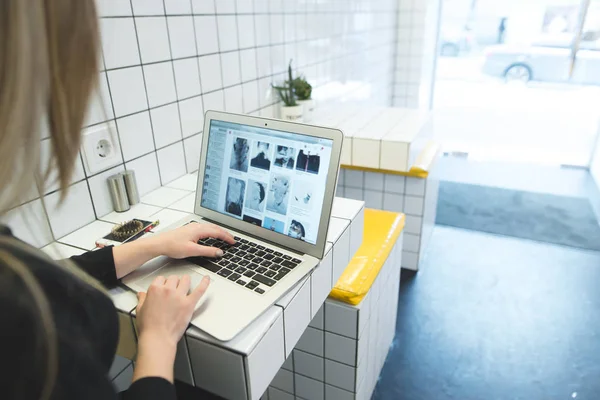
[[[195,185],[196,175],[186,175],[144,196],[142,203],[130,211],[108,214],[44,250],[57,258],[91,250],[94,242],[114,223],[130,218],[159,219],[161,223],[156,230],[166,229],[192,212]],[[179,343],[176,379],[227,399],[260,398],[360,247],[363,223],[362,201],[336,198],[326,253],[319,266],[229,342],[218,341],[190,327]],[[158,268],[167,261],[165,257],[158,257],[143,268]],[[121,333],[128,338],[120,343],[119,353],[132,357],[135,333],[131,328],[137,298],[124,287],[115,288],[110,293],[120,311]],[[124,373],[127,374],[127,371],[121,375]]]

